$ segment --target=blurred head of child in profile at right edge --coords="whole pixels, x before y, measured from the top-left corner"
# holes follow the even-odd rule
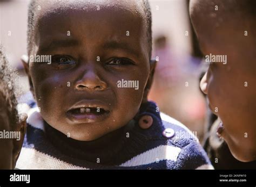
[[[200,87],[222,121],[217,133],[235,158],[256,160],[256,1],[192,0],[190,16],[212,61]]]

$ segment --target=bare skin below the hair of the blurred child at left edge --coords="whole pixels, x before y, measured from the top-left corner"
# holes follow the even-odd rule
[[[16,129],[13,129],[6,108],[5,97],[0,92],[0,131],[21,132],[21,140],[19,141],[16,139],[0,139],[0,169],[14,169],[25,136],[26,118],[16,125]]]

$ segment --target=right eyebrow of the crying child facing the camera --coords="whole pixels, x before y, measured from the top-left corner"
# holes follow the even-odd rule
[[[132,55],[139,57],[138,49],[132,48],[127,42],[108,41],[103,45],[104,49],[122,49]]]

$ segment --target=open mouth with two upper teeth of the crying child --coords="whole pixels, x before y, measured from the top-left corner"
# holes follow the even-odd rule
[[[72,123],[95,123],[109,116],[109,106],[97,100],[81,100],[73,105],[66,116]]]

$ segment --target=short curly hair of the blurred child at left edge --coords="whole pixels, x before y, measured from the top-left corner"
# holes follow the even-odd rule
[[[0,46],[0,93],[4,96],[5,106],[12,129],[16,129],[19,123],[19,115],[17,111],[17,72],[11,68],[6,56],[3,52],[3,47]]]

